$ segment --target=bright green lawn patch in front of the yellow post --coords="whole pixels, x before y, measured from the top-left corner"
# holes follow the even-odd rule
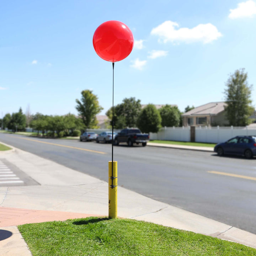
[[[18,226],[33,256],[252,256],[256,249],[131,219],[89,217]]]

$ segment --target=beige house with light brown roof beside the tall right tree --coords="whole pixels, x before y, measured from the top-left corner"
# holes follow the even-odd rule
[[[210,102],[182,114],[183,126],[226,126],[225,102]]]

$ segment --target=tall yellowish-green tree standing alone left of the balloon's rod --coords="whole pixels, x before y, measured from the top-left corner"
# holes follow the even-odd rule
[[[98,103],[98,97],[90,90],[81,92],[81,102],[76,99],[76,110],[82,118],[85,128],[96,128],[97,119],[96,114],[100,113],[103,108]]]

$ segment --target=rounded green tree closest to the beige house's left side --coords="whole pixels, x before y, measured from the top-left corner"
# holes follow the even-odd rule
[[[165,105],[159,110],[162,122],[162,126],[172,127],[180,125],[180,111],[177,107],[171,105]]]

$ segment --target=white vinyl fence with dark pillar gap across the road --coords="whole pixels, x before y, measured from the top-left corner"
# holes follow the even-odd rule
[[[196,142],[219,143],[243,135],[256,135],[250,127],[196,127]],[[190,142],[190,127],[164,127],[158,133],[150,133],[150,140],[176,140]]]

